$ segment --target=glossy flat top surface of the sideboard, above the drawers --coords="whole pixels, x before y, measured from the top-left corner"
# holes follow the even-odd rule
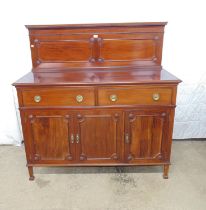
[[[56,73],[29,72],[14,86],[64,86],[64,85],[133,85],[180,83],[177,77],[166,70],[162,71],[69,71]]]

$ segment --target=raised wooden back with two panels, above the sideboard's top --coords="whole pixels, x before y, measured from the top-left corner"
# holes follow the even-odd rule
[[[33,71],[160,68],[165,24],[27,26]]]

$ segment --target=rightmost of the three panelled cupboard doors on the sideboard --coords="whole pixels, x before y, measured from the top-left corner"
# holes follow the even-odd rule
[[[161,161],[167,145],[168,113],[161,110],[126,112],[125,159],[129,162]]]

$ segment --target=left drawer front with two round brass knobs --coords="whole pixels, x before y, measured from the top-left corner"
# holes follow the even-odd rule
[[[94,88],[41,88],[22,92],[24,106],[92,106]]]

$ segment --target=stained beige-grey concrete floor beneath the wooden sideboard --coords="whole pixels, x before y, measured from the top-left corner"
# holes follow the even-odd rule
[[[23,147],[0,147],[0,210],[206,210],[206,141],[174,141],[161,167],[36,168]]]

